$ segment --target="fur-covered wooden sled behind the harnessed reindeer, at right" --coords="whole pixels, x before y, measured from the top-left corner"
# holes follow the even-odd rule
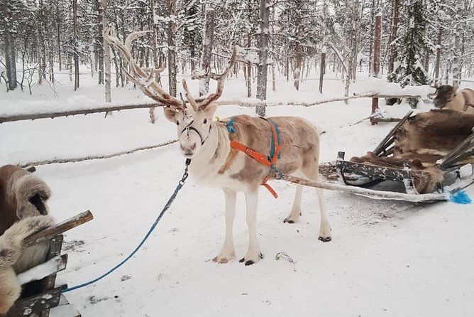
[[[451,110],[449,110],[451,111]],[[419,114],[421,116],[427,115]],[[447,110],[435,110],[431,112],[435,116],[440,117],[441,115],[448,115]],[[463,116],[464,114],[456,113],[456,116]],[[466,114],[467,116],[468,114]],[[360,189],[365,189],[368,196],[370,196],[370,190],[373,193],[377,193],[382,190],[375,190],[374,188],[383,188],[383,183],[391,183],[392,188],[397,188],[397,197],[399,200],[409,200],[417,202],[434,202],[439,200],[447,200],[448,195],[443,193],[443,187],[448,185],[451,191],[456,191],[462,188],[469,186],[474,183],[474,176],[471,175],[465,179],[461,179],[460,169],[468,164],[474,163],[474,124],[472,127],[468,127],[468,132],[466,134],[466,128],[463,129],[463,134],[460,134],[461,137],[465,134],[465,139],[458,142],[458,144],[452,144],[451,151],[446,155],[426,155],[426,154],[416,154],[414,152],[409,153],[412,159],[403,159],[403,155],[400,153],[400,143],[399,139],[407,135],[407,125],[408,122],[404,125],[407,120],[414,121],[416,116],[412,116],[412,111],[408,112],[390,131],[387,136],[380,142],[380,144],[370,154],[371,159],[367,159],[367,156],[361,158],[353,158],[351,161],[346,161],[344,152],[339,152],[336,159],[336,173],[338,182],[343,186],[356,186]],[[473,117],[468,117],[468,126],[469,122],[474,122]],[[428,122],[428,121],[427,121]],[[442,123],[442,122],[441,122]],[[428,122],[429,124],[429,122]],[[439,122],[437,122],[439,124]],[[446,124],[457,124],[457,122],[446,122]],[[428,128],[429,129],[429,128]],[[454,128],[456,129],[456,127]],[[436,127],[432,129],[436,131]],[[416,131],[415,131],[416,133]],[[470,133],[470,134],[469,134]],[[420,132],[420,134],[423,134]],[[397,137],[399,139],[397,139]],[[440,138],[446,137],[446,135],[441,135]],[[460,136],[456,136],[459,139]],[[421,142],[422,143],[422,142]],[[441,144],[441,142],[440,142]],[[430,151],[430,149],[424,149],[425,151]],[[421,151],[420,151],[421,152]],[[432,150],[430,153],[436,153],[436,149]],[[407,153],[405,153],[407,155]],[[368,162],[365,162],[364,159],[367,159]],[[430,161],[429,164],[426,163]],[[385,164],[385,162],[396,161],[398,166],[390,166]],[[412,163],[427,164],[430,167],[430,170],[420,170],[414,168]],[[378,162],[378,163],[377,163]],[[424,168],[424,167],[422,167]],[[436,173],[437,178],[434,178],[432,173]],[[439,176],[441,175],[441,179]],[[420,183],[420,179],[429,179],[433,178],[439,181],[432,181],[426,188],[420,190],[421,186],[417,184]],[[418,182],[418,183],[417,183]],[[379,185],[380,184],[380,185]],[[397,185],[398,184],[398,185]],[[387,184],[385,184],[387,185]],[[347,190],[346,190],[347,191]],[[392,189],[389,190],[392,192]],[[379,193],[377,193],[379,194]],[[395,194],[395,193],[393,193]],[[419,200],[413,200],[413,195],[418,195]],[[407,198],[407,199],[403,199]],[[390,199],[390,198],[387,198]]]

